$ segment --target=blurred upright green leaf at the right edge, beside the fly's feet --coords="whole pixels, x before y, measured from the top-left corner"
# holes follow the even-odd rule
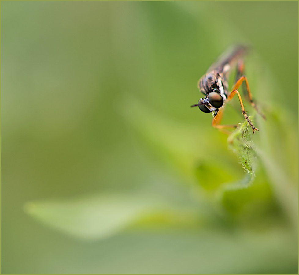
[[[273,108],[278,110],[279,108]],[[298,230],[298,130],[294,118],[280,108],[269,111],[256,152],[271,181],[273,193]]]

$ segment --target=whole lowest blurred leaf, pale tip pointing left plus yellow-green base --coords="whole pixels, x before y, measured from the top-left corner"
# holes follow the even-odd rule
[[[198,221],[194,209],[138,193],[27,202],[24,210],[47,226],[80,239],[106,238],[132,224],[184,226]]]

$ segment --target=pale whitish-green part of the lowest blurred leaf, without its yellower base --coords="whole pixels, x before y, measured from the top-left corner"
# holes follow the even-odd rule
[[[25,211],[74,237],[100,239],[126,228],[158,203],[140,196],[105,194],[72,200],[28,202]]]

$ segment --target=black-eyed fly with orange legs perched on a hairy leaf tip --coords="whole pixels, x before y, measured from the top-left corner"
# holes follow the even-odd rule
[[[207,70],[207,73],[198,81],[198,89],[205,95],[205,97],[200,98],[198,103],[192,105],[191,107],[198,106],[199,109],[204,113],[212,113],[212,126],[220,130],[223,128],[237,127],[237,125],[220,125],[224,111],[224,105],[235,95],[237,95],[239,98],[242,114],[253,130],[253,133],[259,130],[253,126],[253,123],[246,114],[242,98],[238,92],[238,88],[241,86],[241,84],[245,83],[244,88],[247,92],[250,104],[257,110],[258,113],[260,113],[256,104],[253,102],[247,77],[244,75],[242,56],[246,53],[246,51],[247,47],[242,45],[231,48],[229,51],[224,53],[224,55],[220,56],[219,60],[212,64],[212,66],[210,66],[210,68]],[[232,64],[235,63],[237,63],[236,79],[234,81],[232,91],[228,93],[227,77],[231,70]],[[260,113],[260,115],[262,114]],[[264,115],[262,115],[262,117],[265,118]]]

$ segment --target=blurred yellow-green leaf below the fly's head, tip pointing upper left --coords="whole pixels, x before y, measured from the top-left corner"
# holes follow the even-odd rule
[[[123,115],[155,152],[180,170],[191,173],[199,146],[204,142],[198,127],[171,121],[132,97],[124,104]]]

